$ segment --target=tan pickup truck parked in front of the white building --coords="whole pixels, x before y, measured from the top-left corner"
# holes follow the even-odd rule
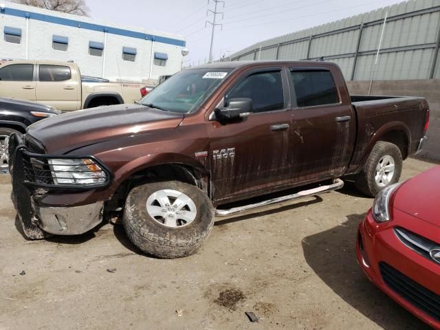
[[[0,61],[0,96],[36,101],[61,111],[133,103],[140,83],[83,81],[76,63],[57,61]]]

